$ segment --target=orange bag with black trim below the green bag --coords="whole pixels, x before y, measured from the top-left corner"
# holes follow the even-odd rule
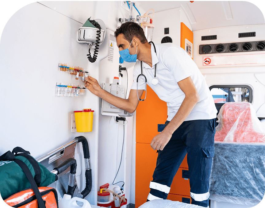
[[[58,208],[57,192],[54,188],[39,187],[40,195],[44,201],[45,207]],[[38,202],[33,189],[20,191],[6,200],[7,205],[19,208],[38,208]]]

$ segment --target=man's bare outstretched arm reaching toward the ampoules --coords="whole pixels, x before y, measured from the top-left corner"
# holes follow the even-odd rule
[[[98,84],[98,81],[93,77],[89,76],[88,78],[86,78],[85,83],[85,87],[90,92],[117,108],[126,110],[129,113],[133,113],[136,110],[136,107],[138,106],[139,100],[137,98],[137,90],[130,90],[129,98],[123,99],[116,97],[113,94],[110,94],[109,92],[103,90]],[[138,90],[139,98],[142,96],[143,92],[144,90]]]

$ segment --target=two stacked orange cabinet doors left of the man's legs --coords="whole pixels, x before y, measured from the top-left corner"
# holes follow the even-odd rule
[[[142,99],[145,97],[145,92]],[[167,103],[160,100],[147,85],[147,95],[140,101],[136,110],[136,167],[135,167],[135,207],[147,200],[150,181],[156,168],[157,152],[150,146],[152,139],[159,134],[158,124],[167,120]]]

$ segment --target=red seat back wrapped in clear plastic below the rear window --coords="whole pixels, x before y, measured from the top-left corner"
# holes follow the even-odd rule
[[[227,102],[217,116],[215,141],[265,142],[265,129],[249,102]]]

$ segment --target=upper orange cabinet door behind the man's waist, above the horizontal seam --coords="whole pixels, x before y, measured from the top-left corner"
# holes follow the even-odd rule
[[[145,97],[145,91],[142,99]],[[147,85],[144,101],[140,101],[136,110],[136,142],[150,144],[159,134],[157,124],[167,120],[167,103],[160,100],[156,93]]]

